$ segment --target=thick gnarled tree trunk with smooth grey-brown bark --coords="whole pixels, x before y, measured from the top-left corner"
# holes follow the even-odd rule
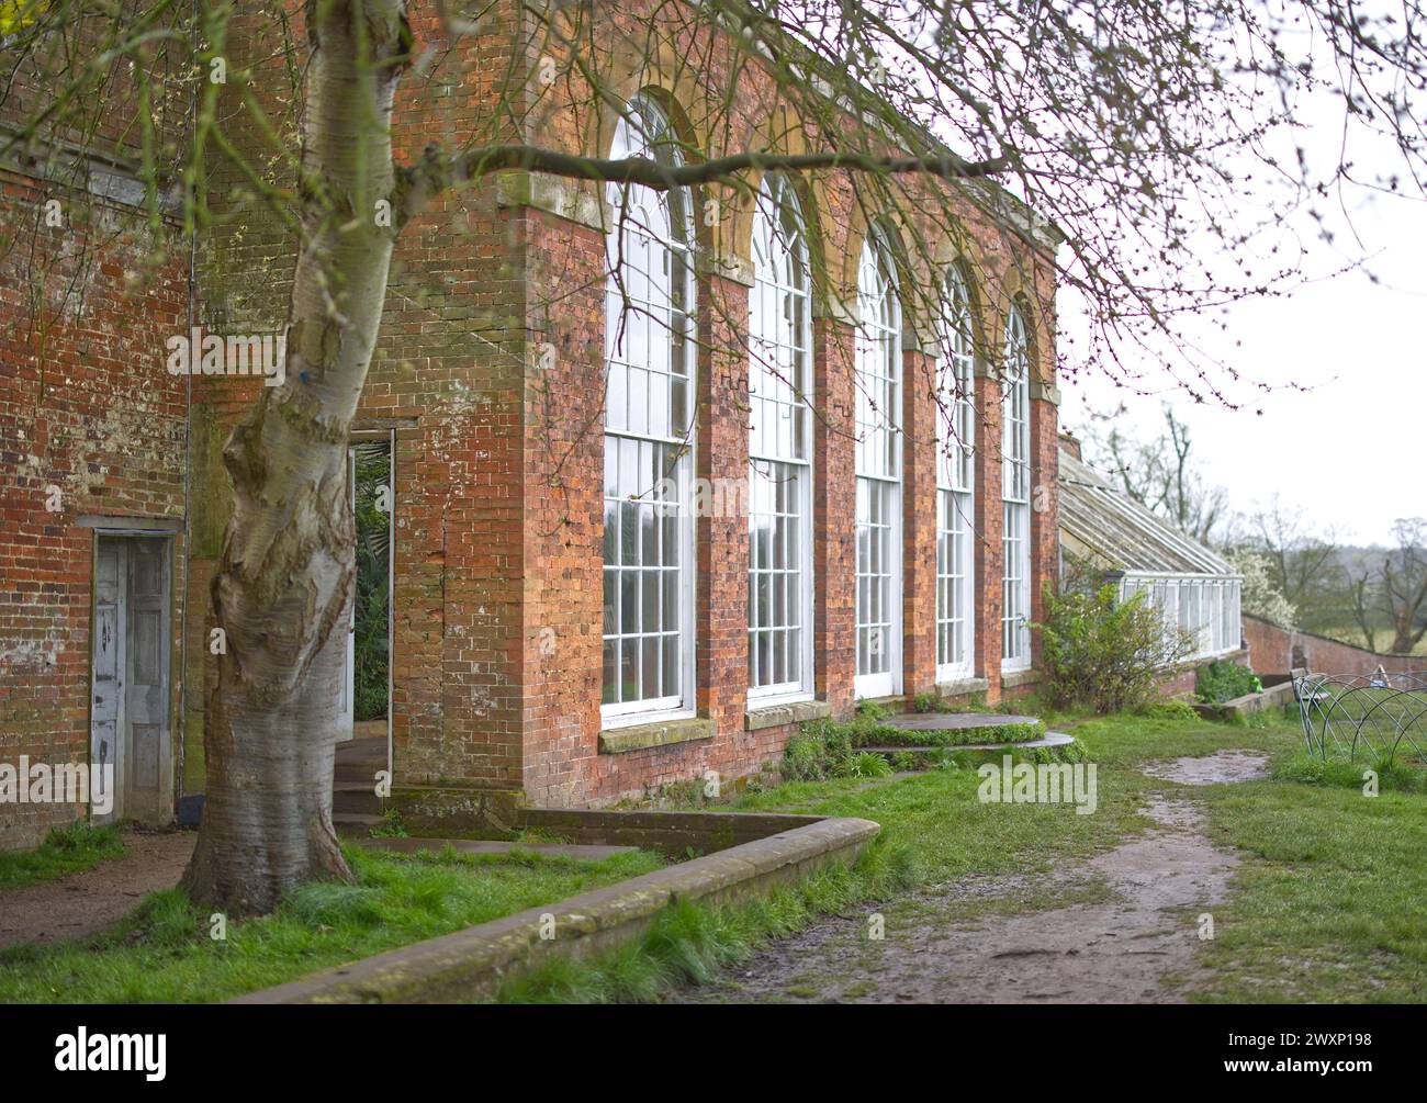
[[[391,104],[410,30],[401,0],[310,0],[307,20],[305,244],[287,377],[224,448],[234,508],[213,615],[227,654],[208,696],[207,800],[183,879],[194,900],[230,915],[270,912],[304,880],[351,878],[331,818],[355,576],[347,442],[387,294],[395,230],[378,201],[394,200]]]

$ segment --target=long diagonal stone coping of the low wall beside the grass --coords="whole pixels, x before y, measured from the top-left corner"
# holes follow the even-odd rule
[[[551,955],[579,957],[641,935],[676,900],[722,903],[850,865],[876,836],[868,819],[818,818],[705,858],[451,935],[313,973],[233,1003],[468,1003]]]

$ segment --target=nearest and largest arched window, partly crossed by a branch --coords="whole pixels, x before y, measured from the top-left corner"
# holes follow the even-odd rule
[[[638,98],[612,157],[681,163]],[[694,708],[694,241],[691,197],[611,184],[605,294],[606,721]]]

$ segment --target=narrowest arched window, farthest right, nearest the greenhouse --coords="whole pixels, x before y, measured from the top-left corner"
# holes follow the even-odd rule
[[[1006,315],[1002,378],[1000,668],[1030,666],[1030,354],[1019,307]]]

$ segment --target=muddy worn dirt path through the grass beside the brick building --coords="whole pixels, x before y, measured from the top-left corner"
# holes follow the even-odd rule
[[[1154,776],[1207,785],[1261,776],[1266,759],[1220,752],[1156,763]],[[1147,768],[1149,773],[1150,769]],[[972,880],[890,906],[885,937],[868,916],[831,919],[771,946],[691,1002],[1177,1003],[1196,977],[1199,916],[1224,899],[1237,858],[1203,833],[1197,800],[1156,796],[1156,828],[1052,880]],[[1025,915],[958,923],[970,898],[1035,889],[1079,896]]]

